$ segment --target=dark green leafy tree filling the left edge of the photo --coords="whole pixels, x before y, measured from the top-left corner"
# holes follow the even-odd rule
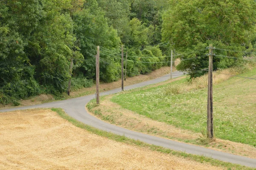
[[[39,94],[34,67],[24,52],[41,19],[40,0],[0,2],[0,102]]]

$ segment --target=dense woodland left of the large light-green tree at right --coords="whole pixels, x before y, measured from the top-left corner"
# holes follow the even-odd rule
[[[147,14],[139,20],[131,17],[138,11],[135,8],[127,0],[1,0],[0,102],[18,105],[17,99],[63,93],[70,79],[71,59],[72,88],[91,86],[96,45],[120,52],[121,42],[137,48],[156,42],[154,27],[147,26],[151,22],[148,18],[154,18],[157,10],[152,16],[145,11]],[[160,67],[142,63],[144,60],[139,57],[150,56],[148,61],[158,61],[155,50],[143,48],[126,49],[134,56],[129,59],[135,59],[128,63],[128,76]],[[120,59],[108,54],[101,54],[101,59],[100,79],[119,79]]]

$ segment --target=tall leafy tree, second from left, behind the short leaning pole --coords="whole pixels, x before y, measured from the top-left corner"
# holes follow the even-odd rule
[[[81,55],[76,52],[79,48],[74,44],[73,20],[67,12],[70,2],[45,0],[43,5],[40,26],[29,39],[26,50],[35,65],[38,82],[47,87],[46,92],[56,94],[67,89],[71,57],[81,58]]]

